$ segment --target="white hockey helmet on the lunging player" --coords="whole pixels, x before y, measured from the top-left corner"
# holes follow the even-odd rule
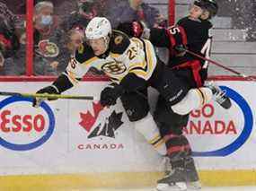
[[[86,39],[107,38],[111,34],[111,24],[105,17],[94,17],[85,30]]]

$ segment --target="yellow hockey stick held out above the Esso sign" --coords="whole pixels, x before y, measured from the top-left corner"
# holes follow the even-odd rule
[[[93,96],[61,95],[48,93],[20,93],[10,91],[0,91],[0,96],[21,96],[25,98],[45,98],[45,99],[67,99],[67,100],[98,100]]]

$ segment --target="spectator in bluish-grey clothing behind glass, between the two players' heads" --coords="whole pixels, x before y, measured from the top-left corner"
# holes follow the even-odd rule
[[[156,8],[142,0],[109,0],[106,6],[106,9],[109,10],[106,17],[109,18],[113,28],[117,27],[119,22],[142,21],[146,23],[147,27],[156,27],[167,23]]]

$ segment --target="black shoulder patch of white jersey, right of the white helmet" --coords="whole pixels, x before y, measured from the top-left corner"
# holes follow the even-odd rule
[[[125,33],[119,30],[113,30],[110,38],[111,53],[121,55],[128,48],[129,44],[130,44],[130,40]]]

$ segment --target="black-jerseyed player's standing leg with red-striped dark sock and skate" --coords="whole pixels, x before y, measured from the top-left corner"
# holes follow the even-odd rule
[[[191,157],[188,139],[182,135],[182,129],[187,126],[189,115],[181,116],[168,109],[163,98],[157,102],[154,120],[164,137],[167,156],[172,165],[172,171],[157,182],[158,190],[186,189],[188,185],[199,188],[199,175]]]

